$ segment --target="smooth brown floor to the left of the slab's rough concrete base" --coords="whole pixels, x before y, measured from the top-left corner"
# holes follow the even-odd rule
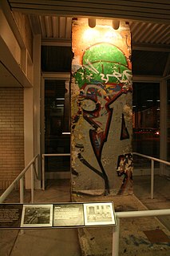
[[[49,182],[45,191],[36,190],[36,203],[70,201],[69,181]],[[12,193],[6,203],[16,201],[18,192]],[[30,192],[25,194],[25,202],[30,202]],[[81,256],[77,229],[49,230],[0,230],[1,256]]]

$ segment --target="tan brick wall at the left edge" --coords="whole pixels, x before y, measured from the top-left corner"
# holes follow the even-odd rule
[[[24,169],[23,89],[0,88],[0,189]]]

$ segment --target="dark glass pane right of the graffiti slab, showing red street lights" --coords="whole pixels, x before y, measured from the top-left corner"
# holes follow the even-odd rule
[[[132,107],[133,152],[160,158],[160,84],[133,83]],[[134,156],[134,167],[148,168],[150,161]]]

